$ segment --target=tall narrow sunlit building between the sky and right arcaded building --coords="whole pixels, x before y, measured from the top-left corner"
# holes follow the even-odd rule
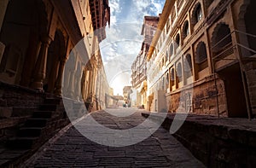
[[[140,53],[131,66],[131,84],[134,90],[133,96],[135,100],[131,100],[132,106],[147,106],[147,54],[154,32],[156,31],[158,16],[144,16],[143,28],[143,44]]]

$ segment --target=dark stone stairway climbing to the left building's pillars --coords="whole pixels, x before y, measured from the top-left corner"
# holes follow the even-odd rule
[[[44,143],[50,134],[49,123],[54,120],[53,114],[60,102],[59,98],[44,99],[44,103],[33,112],[32,118],[27,119],[26,123],[17,131],[16,136],[9,139],[7,147],[31,149]]]

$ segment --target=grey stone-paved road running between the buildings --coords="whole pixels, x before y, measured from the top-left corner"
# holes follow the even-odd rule
[[[101,133],[106,138],[99,136],[95,123],[86,122],[86,119],[93,117],[101,125],[105,125],[109,130],[129,130],[137,125],[141,125],[145,120],[141,116],[140,110],[133,113],[131,108],[115,108],[108,109],[108,113],[96,112],[91,113],[84,119],[81,119],[76,127],[70,126],[68,129],[63,129],[59,136],[55,136],[43,148],[28,159],[25,163],[26,167],[204,167],[200,161],[183,148],[181,143],[169,134],[163,128],[159,128],[153,135],[149,136],[142,142],[137,144],[125,145],[131,139],[140,139],[137,134],[128,134],[121,137],[119,133],[109,136]],[[110,114],[111,113],[111,114]],[[126,117],[125,115],[131,114]],[[84,128],[84,129],[81,129]],[[142,136],[143,130],[140,128]],[[90,132],[90,134],[88,133]],[[92,134],[92,132],[94,134]],[[147,130],[145,130],[147,132]],[[90,141],[84,137],[90,136],[90,139],[102,138],[105,145]],[[94,135],[94,136],[92,136]],[[114,137],[114,138],[113,138]],[[121,138],[120,138],[121,137]],[[114,139],[114,141],[113,141]],[[129,138],[128,138],[129,139]],[[121,141],[124,140],[123,143]],[[97,140],[96,140],[97,141]],[[112,145],[108,146],[107,144]]]

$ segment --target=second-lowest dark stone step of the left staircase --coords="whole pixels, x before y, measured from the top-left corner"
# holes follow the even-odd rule
[[[42,127],[23,127],[18,130],[18,137],[38,137],[41,134]]]

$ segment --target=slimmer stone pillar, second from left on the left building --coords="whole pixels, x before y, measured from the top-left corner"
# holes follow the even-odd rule
[[[63,72],[64,72],[64,67],[67,59],[62,58],[60,61],[60,66],[59,66],[59,72],[58,72],[58,77],[56,79],[56,84],[55,84],[55,96],[62,96],[62,78],[63,78]]]

